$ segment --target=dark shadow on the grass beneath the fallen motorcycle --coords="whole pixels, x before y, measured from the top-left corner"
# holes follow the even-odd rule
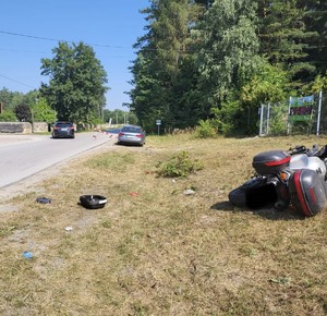
[[[223,210],[223,211],[233,211],[233,212],[252,212],[262,216],[263,218],[269,220],[303,220],[305,219],[304,216],[296,212],[296,210],[292,209],[291,207],[287,208],[286,210],[276,210],[274,207],[265,207],[265,208],[257,208],[257,209],[250,209],[250,208],[240,208],[233,206],[229,200],[223,200],[214,204],[210,209],[215,210]]]

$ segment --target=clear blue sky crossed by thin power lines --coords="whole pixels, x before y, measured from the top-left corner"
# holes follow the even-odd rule
[[[124,92],[135,59],[132,46],[146,31],[138,11],[148,0],[10,0],[1,3],[0,89],[27,93],[40,82],[41,58],[52,58],[58,40],[93,47],[108,74],[107,109],[122,109],[129,102]],[[44,39],[40,39],[44,38]]]

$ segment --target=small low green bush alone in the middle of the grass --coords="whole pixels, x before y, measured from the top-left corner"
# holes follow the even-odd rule
[[[203,169],[203,165],[196,159],[191,160],[187,151],[172,156],[167,162],[158,162],[157,173],[161,177],[187,177],[190,173]]]

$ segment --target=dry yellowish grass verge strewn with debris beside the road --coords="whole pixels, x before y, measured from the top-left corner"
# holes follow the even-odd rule
[[[303,219],[228,203],[254,155],[315,143],[327,142],[152,136],[64,167],[1,212],[1,315],[326,315],[326,211]],[[156,177],[181,150],[204,169]],[[37,204],[40,192],[52,203]],[[109,202],[87,210],[82,194]]]

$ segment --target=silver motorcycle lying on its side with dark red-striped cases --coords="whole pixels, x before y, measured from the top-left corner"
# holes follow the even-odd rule
[[[284,210],[292,205],[304,216],[314,216],[327,207],[326,165],[326,146],[259,153],[252,162],[254,178],[232,190],[229,200],[251,209]]]

